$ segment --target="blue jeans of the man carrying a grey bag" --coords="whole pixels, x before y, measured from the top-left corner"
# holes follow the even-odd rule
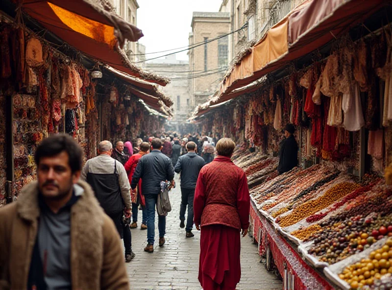
[[[155,206],[158,200],[158,194],[145,194],[146,212],[147,212],[147,242],[155,242]],[[166,217],[158,215],[159,238],[166,234]]]

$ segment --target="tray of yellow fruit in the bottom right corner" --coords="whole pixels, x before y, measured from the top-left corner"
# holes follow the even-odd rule
[[[370,252],[368,258],[345,267],[339,278],[346,281],[352,290],[357,290],[363,289],[365,285],[372,286],[375,280],[380,280],[388,273],[392,273],[392,239],[388,239],[382,247]],[[377,284],[380,287],[383,283]],[[385,283],[385,286],[387,285],[388,283]]]

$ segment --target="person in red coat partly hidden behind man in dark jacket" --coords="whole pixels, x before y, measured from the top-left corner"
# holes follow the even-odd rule
[[[143,142],[140,144],[140,151],[129,157],[128,161],[125,163],[124,168],[126,173],[128,173],[129,182],[132,182],[132,175],[135,172],[136,166],[139,163],[139,159],[148,153],[149,144]],[[147,215],[146,215],[146,203],[144,195],[142,195],[142,179],[139,180],[138,187],[131,192],[132,201],[132,223],[130,224],[131,229],[136,229],[138,227],[138,211],[139,205],[142,206],[142,225],[140,229],[147,230]]]

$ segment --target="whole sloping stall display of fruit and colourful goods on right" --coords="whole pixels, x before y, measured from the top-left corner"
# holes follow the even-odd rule
[[[336,273],[352,289],[388,289],[385,287],[391,281],[386,282],[386,274],[392,274],[392,186],[382,176],[365,174],[359,179],[342,168],[325,165],[294,168],[278,175],[274,169],[277,159],[245,156],[236,164],[244,166],[248,179],[257,176],[263,180],[250,188],[253,204],[264,217],[274,220],[276,229],[286,233],[282,237],[296,238],[303,259],[313,256],[309,261],[319,261],[321,267],[339,265],[355,260],[356,255],[367,255],[369,247],[390,237],[384,247],[347,266],[344,273]],[[252,158],[258,158],[257,162]]]

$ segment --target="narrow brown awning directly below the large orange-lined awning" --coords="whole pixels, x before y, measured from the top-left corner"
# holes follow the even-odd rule
[[[105,68],[116,75],[116,77],[122,79],[124,82],[130,84],[135,89],[146,93],[147,95],[159,98],[166,106],[171,107],[173,101],[170,97],[166,96],[164,93],[160,92],[156,85],[137,79],[127,73],[120,72],[110,66],[105,66]]]

